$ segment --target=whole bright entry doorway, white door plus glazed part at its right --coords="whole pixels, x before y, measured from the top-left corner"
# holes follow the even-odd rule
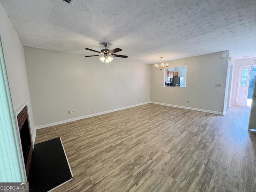
[[[252,93],[256,74],[256,65],[240,66],[236,104],[240,106],[252,105]]]

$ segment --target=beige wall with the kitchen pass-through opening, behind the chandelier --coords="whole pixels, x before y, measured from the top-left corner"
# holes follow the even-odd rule
[[[220,58],[222,54],[226,58]],[[229,51],[222,51],[164,62],[168,68],[187,66],[186,87],[164,87],[163,72],[151,65],[151,101],[222,114],[228,55]],[[216,83],[222,86],[215,87]]]

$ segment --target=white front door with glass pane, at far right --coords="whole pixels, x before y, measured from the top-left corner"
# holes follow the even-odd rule
[[[254,66],[240,66],[239,68],[239,78],[238,78],[238,90],[236,95],[236,104],[241,106],[246,106],[248,99],[248,89],[250,84],[250,73],[251,68]]]

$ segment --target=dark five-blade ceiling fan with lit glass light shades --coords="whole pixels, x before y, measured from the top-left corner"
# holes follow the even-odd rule
[[[125,55],[117,55],[117,54],[114,54],[116,52],[119,52],[119,51],[122,51],[122,49],[120,48],[115,48],[113,50],[109,50],[107,49],[107,46],[108,46],[108,43],[103,43],[104,46],[105,46],[105,49],[102,49],[100,52],[99,51],[96,51],[96,50],[92,50],[92,49],[89,49],[89,48],[85,48],[86,50],[89,50],[89,51],[94,51],[94,52],[97,52],[97,53],[100,53],[99,55],[90,55],[90,56],[84,56],[84,57],[93,57],[93,56],[100,56],[102,55],[102,57],[100,58],[100,60],[102,62],[111,62],[113,60],[113,57],[122,57],[122,58],[127,58],[128,56],[125,56]]]

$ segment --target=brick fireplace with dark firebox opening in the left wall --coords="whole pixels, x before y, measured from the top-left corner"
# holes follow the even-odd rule
[[[22,154],[24,158],[26,175],[28,178],[29,168],[31,163],[33,144],[31,140],[30,124],[28,120],[28,106],[26,105],[17,115],[20,140],[22,146]]]

